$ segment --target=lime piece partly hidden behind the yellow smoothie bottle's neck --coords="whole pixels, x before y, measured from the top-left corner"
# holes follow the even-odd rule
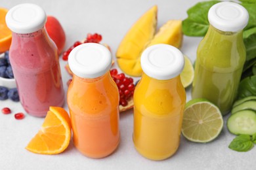
[[[194,68],[192,62],[187,56],[184,56],[185,65],[184,69],[181,72],[181,82],[184,88],[187,88],[190,84],[192,84],[194,79]]]

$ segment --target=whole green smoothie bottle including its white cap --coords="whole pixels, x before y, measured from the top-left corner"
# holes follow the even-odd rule
[[[192,98],[205,98],[227,114],[236,98],[245,62],[242,29],[248,12],[237,3],[213,5],[209,29],[197,51]]]

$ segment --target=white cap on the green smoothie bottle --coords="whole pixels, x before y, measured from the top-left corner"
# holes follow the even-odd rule
[[[247,10],[238,3],[222,2],[211,7],[208,20],[221,31],[236,32],[244,29],[249,20]]]

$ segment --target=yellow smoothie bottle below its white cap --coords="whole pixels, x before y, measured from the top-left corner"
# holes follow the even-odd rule
[[[151,160],[169,158],[179,148],[186,103],[180,76],[156,80],[143,73],[133,97],[135,147]]]

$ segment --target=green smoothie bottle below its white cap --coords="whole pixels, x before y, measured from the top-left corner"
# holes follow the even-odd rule
[[[236,99],[245,62],[242,31],[224,32],[209,26],[197,51],[192,98],[205,98],[227,114]]]

